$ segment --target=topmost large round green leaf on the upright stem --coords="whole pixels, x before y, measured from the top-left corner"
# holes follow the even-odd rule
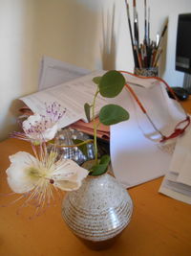
[[[105,73],[99,82],[99,92],[103,97],[114,98],[125,85],[125,79],[122,74],[116,70]]]

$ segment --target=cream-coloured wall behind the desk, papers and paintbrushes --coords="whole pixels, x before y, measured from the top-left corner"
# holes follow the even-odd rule
[[[131,14],[132,2],[129,1]],[[141,32],[143,2],[137,1]],[[169,18],[160,75],[171,85],[181,86],[183,74],[175,71],[177,18],[179,13],[191,12],[191,1],[147,0],[147,3],[151,8],[152,39]],[[36,91],[43,55],[91,70],[133,71],[124,1],[0,1],[0,140],[17,128],[20,103],[16,99]]]

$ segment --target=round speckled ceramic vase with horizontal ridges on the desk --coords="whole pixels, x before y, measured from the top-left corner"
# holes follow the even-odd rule
[[[116,240],[131,220],[133,203],[112,175],[88,176],[63,199],[62,216],[78,238],[93,249]]]

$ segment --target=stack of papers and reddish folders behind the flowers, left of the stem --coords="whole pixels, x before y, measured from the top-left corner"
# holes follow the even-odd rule
[[[33,113],[43,113],[45,103],[56,102],[66,108],[66,114],[60,120],[60,128],[71,126],[89,135],[94,134],[93,122],[87,123],[84,104],[92,104],[96,86],[92,79],[104,71],[90,72],[50,57],[43,57],[40,65],[38,92],[22,97],[23,106],[19,109],[22,113],[20,119]],[[96,115],[101,106],[106,104],[102,97],[96,99]],[[85,122],[84,122],[85,121]],[[96,122],[99,123],[98,118]],[[97,137],[109,141],[110,128],[99,125]]]

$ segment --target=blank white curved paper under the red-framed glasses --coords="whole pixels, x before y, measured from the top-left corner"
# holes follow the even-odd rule
[[[168,98],[163,86],[150,83],[146,88],[133,86],[133,89],[164,134],[172,132],[178,121],[185,117],[175,101]],[[175,144],[162,146],[155,141],[159,136],[126,90],[115,102],[130,113],[128,121],[111,128],[112,167],[117,179],[128,188],[165,175]],[[151,136],[152,133],[155,136]]]

